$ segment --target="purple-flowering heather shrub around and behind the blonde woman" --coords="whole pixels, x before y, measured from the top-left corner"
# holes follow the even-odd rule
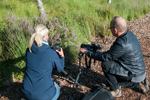
[[[22,79],[25,67],[25,51],[37,24],[44,24],[50,29],[49,43],[51,46],[60,43],[62,48],[65,49],[64,53],[68,56],[66,58],[69,59],[66,62],[74,59],[70,50],[66,49],[74,45],[74,31],[68,29],[64,23],[59,23],[57,18],[44,21],[40,17],[29,20],[28,17],[23,19],[16,18],[14,15],[7,15],[6,19],[0,24],[2,47],[0,81],[12,79],[12,76]]]

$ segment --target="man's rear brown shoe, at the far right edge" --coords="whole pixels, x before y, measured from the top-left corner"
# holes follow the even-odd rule
[[[144,81],[140,82],[140,90],[144,94],[149,91],[148,79],[147,78],[145,78]]]

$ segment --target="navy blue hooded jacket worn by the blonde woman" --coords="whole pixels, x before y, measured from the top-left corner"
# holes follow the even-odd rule
[[[59,58],[49,45],[38,47],[33,43],[32,52],[26,50],[26,72],[22,91],[27,100],[51,100],[56,88],[51,79],[52,70],[61,72],[64,68],[64,58]]]

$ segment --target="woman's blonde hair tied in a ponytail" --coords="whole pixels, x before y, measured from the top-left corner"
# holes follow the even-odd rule
[[[37,44],[38,47],[42,46],[42,38],[49,33],[49,30],[46,26],[39,24],[35,27],[35,33],[32,34],[30,41],[29,41],[29,51],[31,51],[31,47],[33,42]]]

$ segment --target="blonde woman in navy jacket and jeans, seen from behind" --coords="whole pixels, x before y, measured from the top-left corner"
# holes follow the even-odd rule
[[[51,79],[53,68],[61,72],[64,69],[62,48],[56,52],[48,44],[49,30],[37,25],[26,50],[26,72],[22,91],[27,100],[57,100],[59,86]]]

